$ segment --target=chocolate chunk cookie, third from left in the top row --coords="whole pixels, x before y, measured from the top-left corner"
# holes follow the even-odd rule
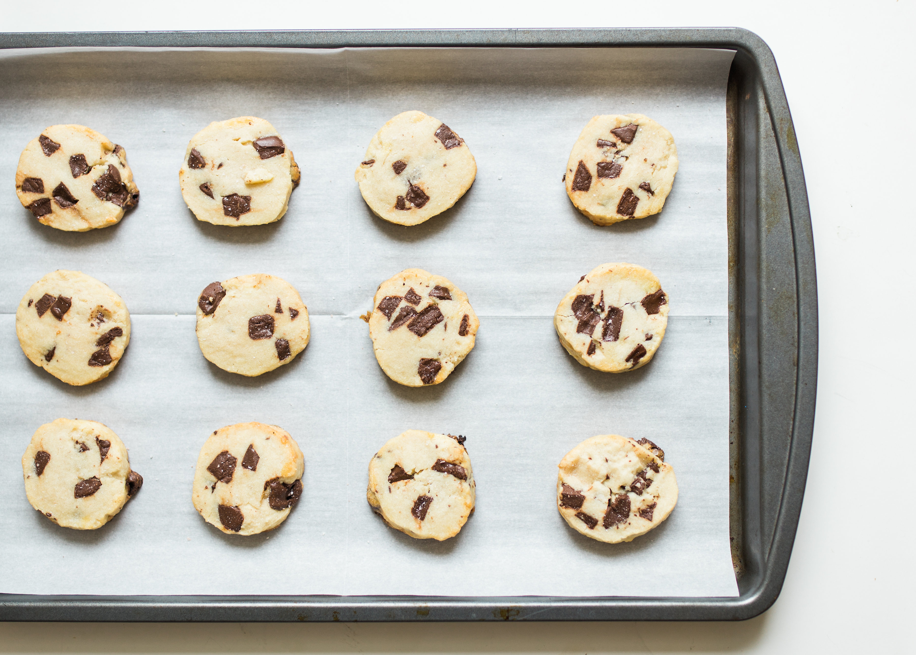
[[[417,225],[458,202],[476,174],[474,155],[451,128],[406,111],[378,130],[355,177],[376,216]]]

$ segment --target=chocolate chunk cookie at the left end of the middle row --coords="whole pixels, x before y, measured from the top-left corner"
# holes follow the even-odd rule
[[[74,385],[108,376],[130,343],[121,296],[79,271],[50,272],[22,296],[16,336],[26,357]]]

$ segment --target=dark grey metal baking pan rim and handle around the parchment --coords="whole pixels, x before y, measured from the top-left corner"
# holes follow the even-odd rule
[[[563,47],[735,50],[728,134],[731,539],[737,597],[0,594],[3,620],[729,620],[780,594],[802,508],[817,381],[817,288],[802,160],[776,61],[739,28],[0,34],[0,48]]]

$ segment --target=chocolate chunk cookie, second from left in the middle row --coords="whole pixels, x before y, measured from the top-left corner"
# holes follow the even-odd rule
[[[255,273],[214,282],[197,299],[197,341],[224,371],[253,377],[309,344],[309,310],[290,283]]]

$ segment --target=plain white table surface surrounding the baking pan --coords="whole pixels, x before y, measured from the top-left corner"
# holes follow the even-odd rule
[[[821,325],[814,445],[789,573],[768,612],[740,623],[14,623],[0,624],[0,653],[911,651],[913,0],[45,0],[11,3],[0,20],[3,31],[685,26],[742,27],[767,41],[811,202]]]

